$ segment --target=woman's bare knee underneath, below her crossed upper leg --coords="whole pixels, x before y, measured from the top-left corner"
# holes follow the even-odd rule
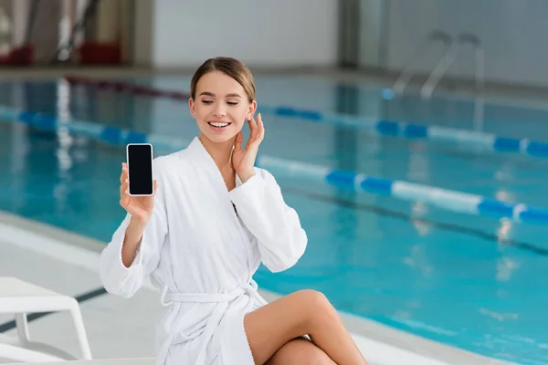
[[[291,339],[265,365],[336,365],[322,349],[309,339]]]

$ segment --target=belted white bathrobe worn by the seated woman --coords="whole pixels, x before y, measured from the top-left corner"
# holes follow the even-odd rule
[[[299,216],[263,169],[228,192],[198,138],[153,168],[158,192],[137,256],[123,266],[127,214],[101,254],[103,286],[132,297],[151,276],[165,306],[157,364],[253,364],[243,319],[266,301],[252,276],[261,262],[279,272],[303,255]]]

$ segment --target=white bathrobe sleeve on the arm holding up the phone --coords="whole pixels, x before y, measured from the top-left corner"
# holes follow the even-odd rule
[[[160,262],[163,242],[167,235],[167,216],[164,207],[163,180],[157,176],[159,166],[154,161],[154,175],[158,181],[158,191],[154,198],[153,215],[142,234],[141,243],[132,265],[126,267],[121,261],[121,247],[125,231],[130,224],[131,214],[125,218],[112,235],[111,242],[100,255],[100,280],[103,287],[121,297],[132,297],[145,276],[150,275]]]

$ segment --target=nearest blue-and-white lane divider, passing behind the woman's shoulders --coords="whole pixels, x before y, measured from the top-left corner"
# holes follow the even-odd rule
[[[144,134],[101,126],[86,120],[58,120],[57,118],[25,110],[0,107],[0,121],[23,122],[42,130],[67,129],[110,144],[125,145],[129,142],[150,142],[154,147],[171,151],[184,149],[190,141],[156,134]],[[411,202],[425,202],[452,212],[489,215],[508,218],[516,222],[548,225],[548,209],[525,203],[507,203],[480,195],[460,193],[433,186],[368,176],[364,173],[334,170],[307,162],[280,159],[259,154],[256,165],[266,169],[279,169],[319,179],[334,186],[353,189],[360,193],[392,196]]]

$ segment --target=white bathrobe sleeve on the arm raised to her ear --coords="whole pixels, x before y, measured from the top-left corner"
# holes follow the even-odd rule
[[[299,215],[284,202],[274,176],[256,168],[246,183],[229,194],[242,221],[257,238],[262,263],[272,272],[295,265],[304,254],[308,238]]]

